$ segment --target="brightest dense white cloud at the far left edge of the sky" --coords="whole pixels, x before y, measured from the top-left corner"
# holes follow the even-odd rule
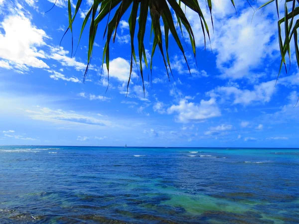
[[[49,68],[40,58],[45,53],[38,47],[44,46],[48,38],[45,31],[34,26],[19,9],[18,14],[10,14],[0,24],[4,32],[0,32],[0,66],[16,70],[28,70],[28,67]],[[10,65],[10,66],[9,66]]]

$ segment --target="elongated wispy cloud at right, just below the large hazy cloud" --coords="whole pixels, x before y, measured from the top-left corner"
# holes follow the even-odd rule
[[[221,97],[222,100],[229,100],[233,97],[233,104],[250,105],[253,102],[270,102],[275,93],[275,80],[255,85],[253,90],[241,90],[234,86],[217,87],[206,95],[210,97]]]

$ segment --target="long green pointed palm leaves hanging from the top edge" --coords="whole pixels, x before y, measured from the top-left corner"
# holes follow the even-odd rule
[[[279,33],[279,46],[280,46],[280,53],[281,53],[281,66],[279,68],[279,74],[281,73],[282,66],[284,65],[287,71],[286,67],[286,57],[289,57],[289,63],[291,64],[291,41],[294,37],[295,42],[295,53],[296,53],[296,59],[297,64],[299,67],[299,47],[298,47],[298,27],[299,27],[299,20],[297,20],[294,24],[294,19],[299,14],[299,6],[296,3],[299,3],[299,0],[285,0],[285,15],[283,18],[280,18],[279,14],[279,2],[278,0],[269,0],[268,2],[264,3],[259,7],[263,8],[270,3],[275,2],[276,4],[276,10],[278,14],[278,33]],[[71,7],[71,1],[68,0],[68,17],[69,17],[69,26],[67,27],[67,30],[70,30],[73,34],[73,27],[72,24],[77,17],[78,10],[82,7],[82,0],[77,0],[75,12],[72,15],[72,7]],[[231,0],[232,6],[236,9],[234,0]],[[182,5],[183,4],[183,5]],[[206,4],[209,8],[209,13],[211,17],[212,26],[214,28],[214,21],[212,17],[212,9],[213,4],[211,0],[207,0]],[[292,4],[292,8],[289,6]],[[117,35],[117,28],[119,26],[119,23],[125,14],[126,11],[131,10],[130,18],[129,18],[129,27],[130,27],[130,36],[131,36],[131,64],[130,64],[130,74],[129,74],[129,80],[127,85],[127,92],[129,89],[129,84],[131,80],[132,70],[133,70],[133,59],[136,65],[139,64],[139,70],[141,74],[141,78],[143,81],[143,87],[144,87],[144,93],[145,93],[145,86],[144,86],[144,70],[143,70],[143,62],[148,66],[147,57],[146,57],[146,49],[144,44],[144,38],[146,34],[146,27],[149,23],[148,21],[148,14],[150,14],[151,17],[151,28],[150,28],[150,35],[153,33],[153,44],[151,49],[151,56],[150,56],[150,72],[152,71],[152,59],[154,52],[156,50],[156,46],[158,46],[160,53],[163,57],[163,62],[165,65],[165,69],[167,72],[167,76],[169,79],[168,69],[172,74],[171,71],[171,65],[169,60],[169,53],[168,53],[168,45],[169,45],[169,31],[172,34],[172,37],[175,40],[176,45],[180,49],[185,61],[186,65],[189,69],[190,68],[187,62],[187,58],[185,56],[184,48],[181,44],[179,35],[177,33],[177,29],[174,25],[174,18],[172,14],[176,16],[177,19],[177,25],[179,26],[179,30],[181,35],[183,36],[183,28],[189,35],[189,41],[192,46],[192,51],[194,58],[196,56],[196,44],[195,44],[195,37],[193,34],[192,27],[185,15],[186,12],[183,11],[182,7],[185,6],[186,8],[189,8],[196,12],[198,14],[199,22],[202,28],[202,34],[204,36],[204,46],[206,46],[206,35],[207,38],[210,40],[210,30],[206,22],[206,18],[204,17],[204,14],[202,12],[202,6],[199,4],[197,0],[93,0],[93,4],[90,7],[89,11],[87,12],[83,22],[82,22],[82,28],[79,36],[78,45],[80,43],[83,30],[86,27],[87,21],[90,20],[90,26],[89,26],[89,44],[88,44],[88,53],[87,53],[87,67],[84,74],[84,80],[87,75],[88,68],[91,63],[92,58],[92,52],[93,52],[93,46],[96,38],[96,33],[98,29],[99,23],[103,22],[104,18],[107,18],[106,22],[106,28],[104,31],[104,38],[106,37],[106,43],[104,47],[103,52],[103,64],[106,63],[106,69],[108,71],[108,80],[109,80],[109,62],[110,62],[110,42],[111,39],[113,42],[115,42],[115,38]],[[289,12],[289,9],[291,8],[291,11]],[[173,13],[171,12],[173,11]],[[114,11],[114,14],[112,16],[111,13]],[[112,17],[110,19],[110,17]],[[162,19],[163,24],[160,23],[160,18]],[[138,39],[138,56],[139,56],[139,62],[136,57],[135,53],[135,45],[134,45],[134,38],[136,35],[136,28],[137,28],[137,19],[138,19],[138,32],[137,32],[137,39]],[[282,24],[284,23],[284,26]],[[162,31],[161,31],[161,25],[164,25],[164,34],[165,34],[165,43],[163,43],[162,38]],[[282,33],[282,28],[284,29],[284,37]],[[65,34],[64,34],[65,35]],[[73,38],[72,38],[73,39]],[[73,43],[72,43],[73,45]],[[77,46],[78,48],[78,46]],[[76,48],[76,51],[77,51]],[[164,49],[165,53],[164,54]],[[75,54],[76,54],[75,51]],[[72,51],[73,52],[73,51]],[[72,54],[73,55],[73,54]],[[166,59],[165,59],[166,56]],[[191,72],[190,72],[191,74]]]

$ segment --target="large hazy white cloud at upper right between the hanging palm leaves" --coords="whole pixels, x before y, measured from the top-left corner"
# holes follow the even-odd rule
[[[201,1],[201,4],[205,5],[205,2]],[[276,18],[272,19],[272,15],[266,11],[256,13],[252,20],[253,10],[248,4],[246,6],[244,10],[240,10],[244,8],[240,6],[240,11],[235,13],[229,0],[214,0],[214,32],[210,33],[211,45],[213,52],[216,52],[216,65],[223,78],[245,77],[252,80],[259,76],[254,69],[278,50],[276,40],[273,41],[277,32]],[[207,10],[203,10],[203,13],[209,18]],[[202,48],[204,40],[198,14],[187,8],[186,15],[193,28],[196,45]],[[209,27],[212,27],[210,19],[207,21]],[[185,33],[185,37],[187,36]],[[206,43],[209,49],[208,38]]]

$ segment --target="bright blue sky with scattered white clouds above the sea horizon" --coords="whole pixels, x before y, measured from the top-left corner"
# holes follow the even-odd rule
[[[0,145],[299,147],[299,106],[294,108],[299,71],[294,51],[288,74],[282,72],[275,86],[280,65],[275,4],[253,17],[253,8],[265,0],[252,2],[253,8],[246,0],[235,0],[237,12],[230,0],[212,0],[214,31],[206,50],[198,15],[187,8],[196,60],[187,35],[180,38],[191,75],[169,35],[174,78],[168,81],[157,50],[152,84],[149,69],[145,70],[145,95],[134,67],[126,97],[130,12],[122,17],[111,43],[106,92],[107,71],[101,75],[101,66],[107,20],[98,28],[83,83],[88,28],[71,57],[70,33],[59,46],[68,26],[67,1],[57,0],[45,13],[54,1],[0,0]],[[91,1],[84,1],[74,22],[75,47]],[[205,1],[200,5],[211,29]],[[150,18],[146,29],[150,59]]]

